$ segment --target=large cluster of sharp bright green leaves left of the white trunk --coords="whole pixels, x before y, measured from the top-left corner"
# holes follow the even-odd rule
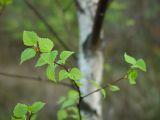
[[[53,50],[53,42],[48,38],[40,38],[35,32],[24,31],[23,32],[23,43],[26,46],[32,47],[25,49],[21,54],[21,63],[33,58],[36,52],[40,53],[40,57],[37,60],[36,67],[48,65],[46,69],[46,76],[49,80],[56,82],[55,70],[57,66],[63,68],[59,72],[59,81],[66,78],[72,80],[81,79],[81,73],[78,68],[72,68],[70,71],[66,71],[65,63],[66,60],[74,53],[71,51],[62,51],[59,60],[57,60],[58,51]],[[57,60],[57,61],[56,61]]]

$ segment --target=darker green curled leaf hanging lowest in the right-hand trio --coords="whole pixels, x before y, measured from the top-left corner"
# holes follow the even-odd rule
[[[137,79],[137,77],[138,77],[138,73],[137,73],[136,70],[130,70],[130,71],[128,72],[128,79],[129,79],[129,83],[130,83],[131,85],[136,84],[136,79]]]

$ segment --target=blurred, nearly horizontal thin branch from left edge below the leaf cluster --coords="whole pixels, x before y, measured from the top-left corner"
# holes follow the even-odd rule
[[[49,80],[43,80],[40,77],[30,77],[30,76],[25,76],[25,75],[17,75],[17,74],[11,74],[11,73],[5,73],[5,72],[0,72],[0,75],[2,76],[6,76],[6,77],[13,77],[13,78],[18,78],[18,79],[29,79],[29,80],[35,80],[35,81],[45,81],[46,83],[51,83],[52,81]],[[58,83],[57,85],[62,85],[62,86],[66,86],[66,87],[70,87],[72,88],[72,85],[68,84],[68,83]]]

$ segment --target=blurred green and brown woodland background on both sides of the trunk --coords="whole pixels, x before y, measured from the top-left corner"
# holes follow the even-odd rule
[[[46,102],[38,120],[56,120],[56,101],[68,88],[46,82],[44,68],[36,59],[20,65],[24,50],[22,33],[35,31],[55,43],[55,49],[78,54],[79,31],[74,0],[13,0],[0,7],[0,120],[10,120],[16,103]],[[137,85],[119,83],[121,90],[103,100],[104,120],[160,120],[160,1],[113,0],[104,21],[105,64],[103,83],[121,77],[127,70],[123,54],[128,52],[147,63]],[[72,58],[69,61],[77,65]],[[39,78],[42,81],[38,81]]]

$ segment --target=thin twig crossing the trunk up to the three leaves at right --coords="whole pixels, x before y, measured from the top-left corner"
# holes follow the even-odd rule
[[[90,96],[90,95],[92,95],[92,94],[94,94],[94,93],[96,93],[96,92],[99,92],[99,91],[102,90],[102,89],[106,89],[106,88],[108,88],[108,87],[110,86],[110,84],[116,84],[116,83],[118,83],[119,81],[124,80],[124,79],[126,79],[126,78],[127,78],[127,76],[124,75],[123,77],[121,77],[121,78],[119,78],[119,79],[117,79],[117,80],[115,80],[115,81],[112,81],[112,82],[110,82],[109,84],[107,84],[107,85],[105,85],[105,86],[103,86],[103,87],[101,87],[101,88],[99,88],[99,89],[96,89],[96,90],[94,90],[94,91],[92,91],[92,92],[90,92],[90,93],[88,93],[88,94],[86,94],[86,95],[84,95],[84,96],[81,96],[81,99],[84,99],[85,97],[88,97],[88,96]]]

